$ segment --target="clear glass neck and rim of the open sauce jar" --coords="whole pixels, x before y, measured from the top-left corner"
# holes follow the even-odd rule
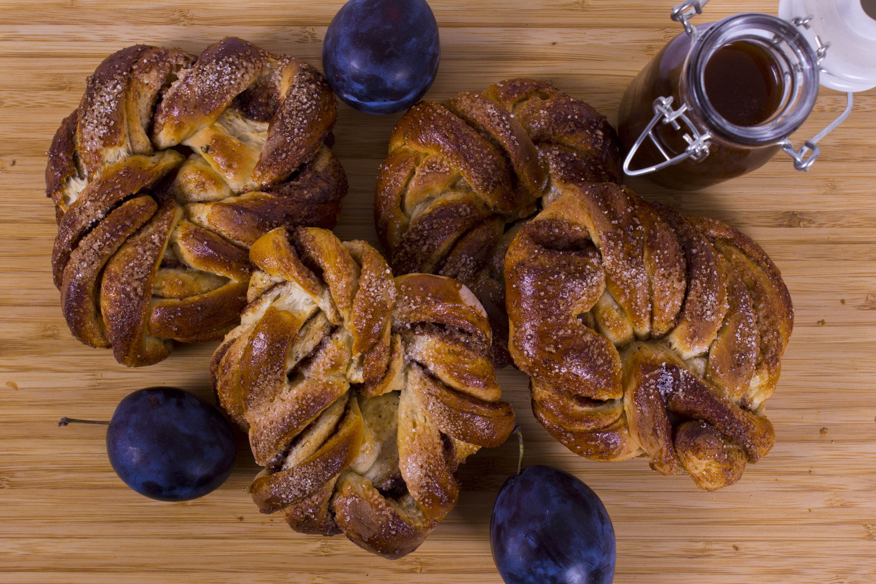
[[[736,125],[721,116],[705,89],[710,58],[718,49],[736,41],[759,46],[774,60],[781,75],[778,108],[765,121],[751,126]],[[794,25],[769,14],[748,12],[697,28],[682,70],[679,96],[688,104],[691,119],[710,132],[714,141],[734,146],[768,146],[790,136],[806,121],[818,96],[818,73],[816,54]]]

